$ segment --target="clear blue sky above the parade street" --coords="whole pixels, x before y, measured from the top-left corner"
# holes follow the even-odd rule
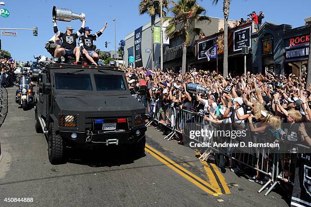
[[[38,26],[38,37],[33,36],[32,31],[17,31],[17,37],[2,36],[2,49],[11,52],[13,58],[18,61],[33,60],[33,55],[48,55],[44,48],[45,43],[53,35],[52,8],[53,6],[68,8],[73,12],[84,12],[86,16],[86,25],[97,32],[105,22],[108,27],[104,34],[95,43],[101,50],[114,50],[114,23],[113,18],[117,19],[117,45],[120,39],[133,32],[139,26],[147,23],[150,18],[147,15],[138,14],[139,0],[2,0],[6,8],[10,11],[8,18],[0,17],[1,27],[14,28],[33,28]],[[222,1],[217,6],[211,4],[211,0],[198,1],[206,10],[207,15],[212,17],[222,17]],[[252,11],[263,11],[266,21],[272,21],[278,24],[291,24],[293,27],[304,25],[304,18],[311,16],[310,0],[232,0],[230,8],[230,19],[246,18],[246,15]],[[73,25],[79,28],[81,22],[74,20],[72,22],[58,21],[58,28],[65,32],[66,25]],[[108,48],[104,47],[105,41],[112,42]],[[49,56],[49,55],[48,55]]]

